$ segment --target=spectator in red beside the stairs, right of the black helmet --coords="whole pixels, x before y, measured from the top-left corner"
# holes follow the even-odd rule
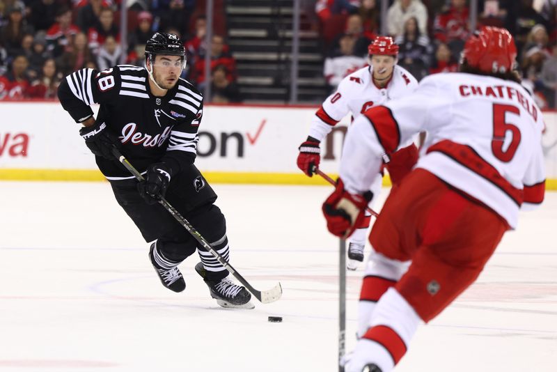
[[[218,65],[223,65],[226,68],[226,79],[228,82],[235,82],[236,80],[236,61],[232,54],[230,54],[228,45],[224,43],[224,38],[220,35],[213,35],[211,39],[211,72]],[[201,55],[196,60],[192,74],[195,77],[195,82],[198,88],[203,91],[205,88],[205,56]]]

